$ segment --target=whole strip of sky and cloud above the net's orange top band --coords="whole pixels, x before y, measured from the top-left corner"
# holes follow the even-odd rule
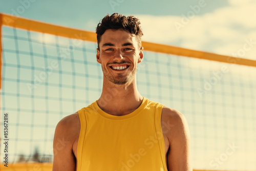
[[[254,0],[0,1],[0,12],[88,31],[106,14],[134,15],[142,40],[256,60]]]

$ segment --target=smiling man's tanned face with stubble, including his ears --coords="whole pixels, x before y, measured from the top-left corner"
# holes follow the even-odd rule
[[[137,65],[143,59],[142,50],[131,33],[109,29],[101,36],[97,62],[101,64],[106,79],[124,84],[136,78]]]

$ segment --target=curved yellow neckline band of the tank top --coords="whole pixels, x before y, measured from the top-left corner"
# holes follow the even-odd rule
[[[106,119],[110,119],[110,120],[125,120],[125,119],[130,119],[130,118],[133,118],[135,116],[137,116],[143,109],[146,108],[146,105],[148,104],[148,99],[143,97],[143,100],[139,106],[139,108],[137,108],[135,111],[133,111],[132,113],[130,114],[127,114],[127,115],[123,115],[123,116],[116,116],[116,115],[111,115],[111,114],[108,114],[104,111],[102,111],[102,109],[99,108],[99,105],[97,103],[97,100],[92,103],[92,106],[94,108],[94,110],[102,117],[106,118]]]

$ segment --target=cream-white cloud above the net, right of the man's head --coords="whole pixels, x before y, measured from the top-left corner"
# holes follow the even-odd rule
[[[135,16],[141,20],[144,41],[231,56],[243,49],[245,39],[256,41],[253,19],[256,16],[256,1],[229,0],[229,4],[228,7],[190,19],[187,13],[183,16]],[[210,2],[202,8],[208,5]],[[180,24],[178,27],[177,23]],[[241,57],[256,60],[256,45]]]

